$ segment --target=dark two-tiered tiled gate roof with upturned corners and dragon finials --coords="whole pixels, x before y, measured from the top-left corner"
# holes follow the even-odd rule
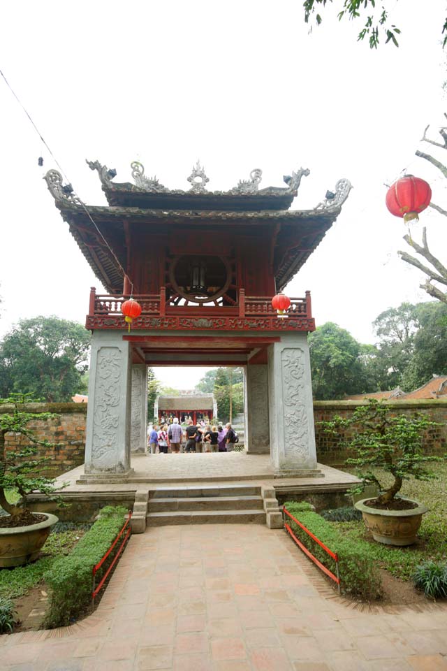
[[[305,263],[339,215],[351,189],[348,180],[339,180],[334,192],[312,210],[288,210],[303,176],[300,168],[284,177],[286,187],[259,189],[262,172],[251,171],[249,180],[240,180],[228,192],[208,192],[209,181],[197,164],[188,178],[188,192],[170,190],[156,178],[147,178],[141,164],[133,163],[135,184],[115,183],[116,171],[87,161],[101,178],[110,205],[86,206],[71,185],[64,185],[61,174],[51,170],[45,175],[55,204],[89,262],[96,277],[111,294],[122,291],[126,249],[125,222],[138,222],[154,232],[166,230],[166,224],[189,227],[211,223],[215,226],[268,226],[274,231],[273,270],[277,289],[282,289]]]

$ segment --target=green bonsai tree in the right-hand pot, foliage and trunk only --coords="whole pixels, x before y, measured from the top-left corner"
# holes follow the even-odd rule
[[[424,433],[430,426],[438,426],[423,414],[415,412],[412,417],[404,414],[393,416],[393,408],[386,402],[369,399],[368,405],[359,405],[349,419],[335,417],[332,421],[322,421],[326,433],[339,433],[337,429],[352,428],[352,437],[345,441],[356,451],[356,458],[346,460],[346,464],[359,466],[358,477],[364,484],[375,483],[379,496],[374,503],[387,505],[394,500],[402,488],[404,479],[414,477],[429,480],[436,475],[423,468],[423,463],[440,461],[439,456],[423,454]],[[382,468],[393,475],[393,484],[385,489],[378,477],[369,468]]]

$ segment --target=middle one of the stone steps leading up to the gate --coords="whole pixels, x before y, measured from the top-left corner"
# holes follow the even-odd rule
[[[198,498],[151,498],[148,512],[216,510],[263,510],[262,496],[200,496]]]

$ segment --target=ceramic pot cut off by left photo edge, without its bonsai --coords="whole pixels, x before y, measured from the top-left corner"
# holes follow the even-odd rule
[[[22,566],[38,558],[41,547],[50,534],[51,527],[56,524],[57,517],[50,513],[45,514],[43,522],[29,526],[15,528],[0,527],[0,567]]]

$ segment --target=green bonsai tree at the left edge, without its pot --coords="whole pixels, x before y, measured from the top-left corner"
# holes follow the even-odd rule
[[[36,459],[37,446],[54,447],[54,443],[40,440],[29,428],[31,420],[52,419],[52,412],[27,412],[24,403],[29,403],[29,394],[12,394],[9,398],[0,398],[0,405],[10,406],[10,412],[0,412],[0,506],[10,514],[8,520],[2,519],[1,526],[22,526],[34,524],[36,520],[26,507],[24,498],[31,491],[40,491],[51,496],[60,485],[54,486],[54,479],[41,475],[39,471],[47,458]],[[15,451],[6,451],[6,433],[25,436],[30,445],[24,445]],[[6,490],[15,489],[22,499],[19,503],[9,503]]]

